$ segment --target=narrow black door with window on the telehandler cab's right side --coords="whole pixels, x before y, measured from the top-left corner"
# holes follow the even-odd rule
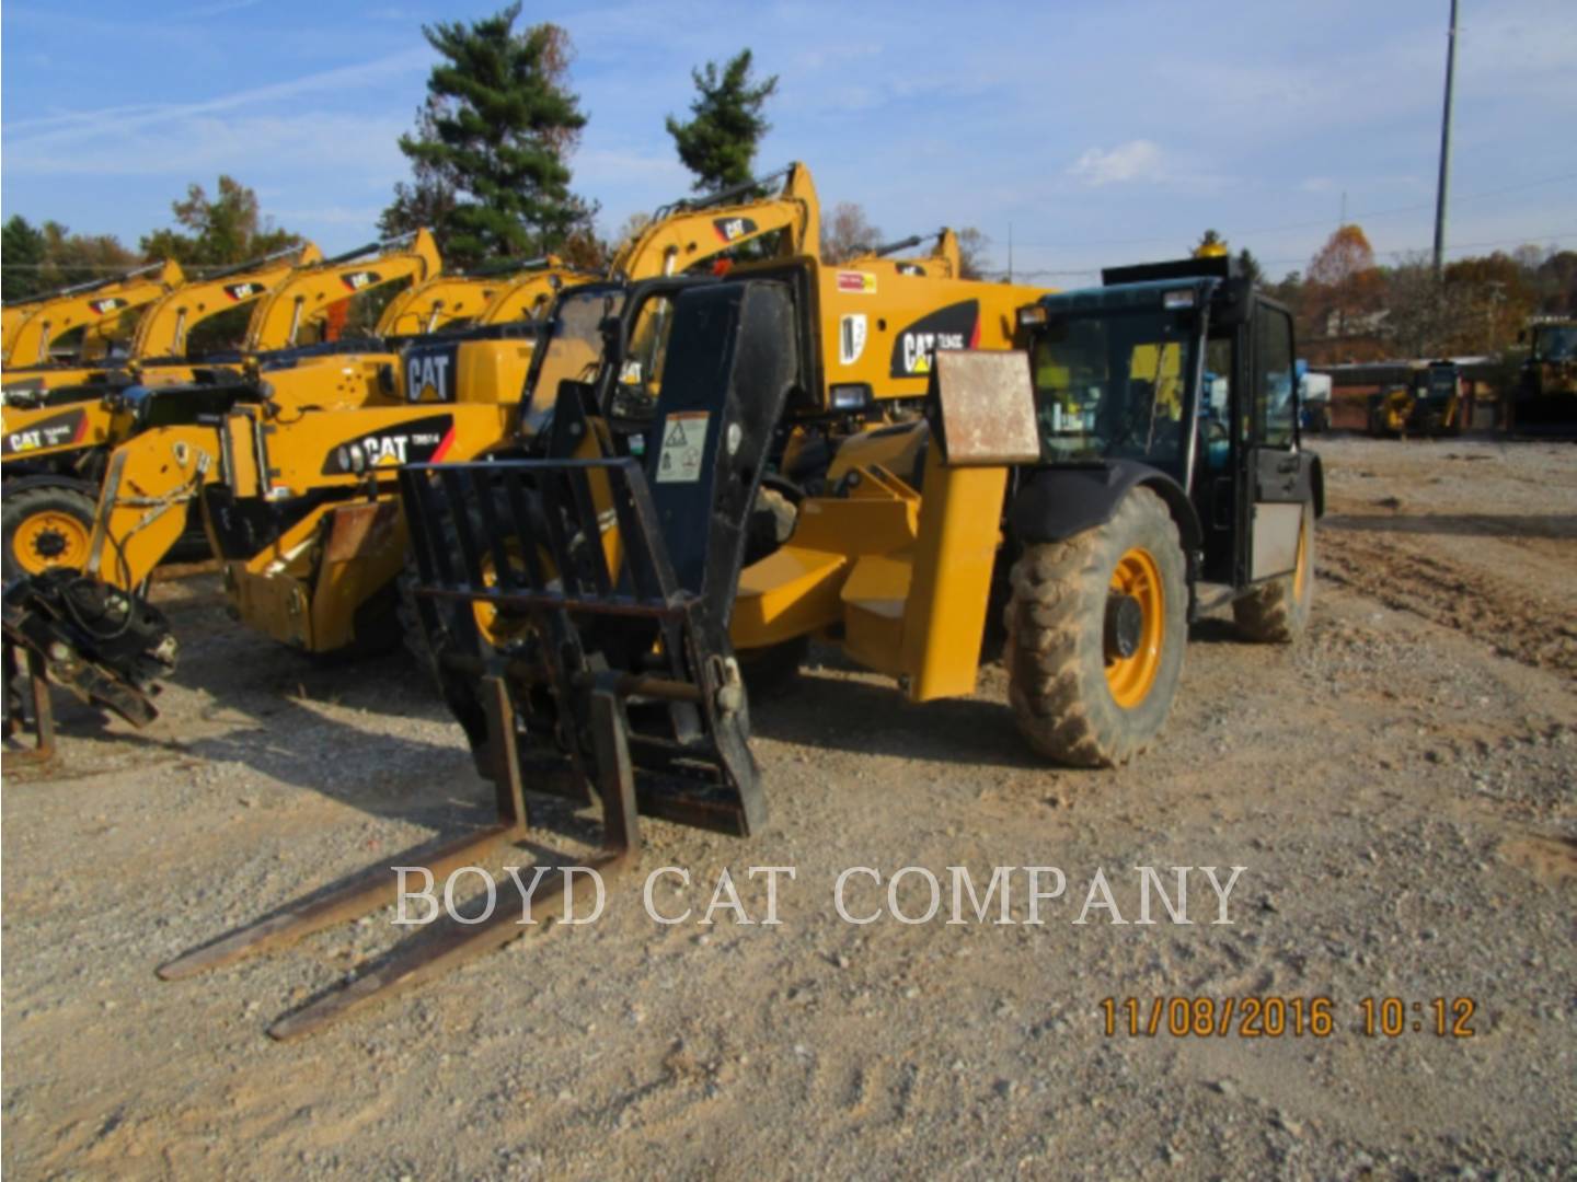
[[[1240,471],[1238,572],[1244,583],[1258,583],[1292,572],[1298,563],[1314,459],[1298,446],[1292,315],[1257,299],[1249,336],[1249,413],[1240,418],[1247,438]]]

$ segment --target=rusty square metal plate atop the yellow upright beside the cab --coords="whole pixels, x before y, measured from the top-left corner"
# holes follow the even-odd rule
[[[970,468],[1041,459],[1027,353],[938,348],[930,380],[941,408],[941,446],[949,465]]]

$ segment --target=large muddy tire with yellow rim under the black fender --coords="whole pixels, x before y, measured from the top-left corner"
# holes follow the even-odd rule
[[[1137,626],[1117,599],[1139,605]],[[1131,656],[1113,613],[1137,640]],[[1187,643],[1187,575],[1165,503],[1137,487],[1104,526],[1027,545],[1006,623],[1008,697],[1030,745],[1080,768],[1139,755],[1167,720]]]

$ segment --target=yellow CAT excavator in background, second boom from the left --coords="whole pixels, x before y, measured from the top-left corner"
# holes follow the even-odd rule
[[[192,374],[191,366],[178,362],[192,359],[188,348],[192,333],[214,317],[254,304],[270,290],[284,282],[296,268],[322,262],[322,252],[306,243],[284,251],[229,266],[208,279],[177,287],[148,306],[137,322],[126,356],[117,359],[115,369],[46,362],[41,366],[17,366],[5,374],[8,402],[27,405],[28,394],[62,386],[104,385],[117,369],[148,367],[147,385],[183,381]],[[68,396],[84,397],[80,392]]]

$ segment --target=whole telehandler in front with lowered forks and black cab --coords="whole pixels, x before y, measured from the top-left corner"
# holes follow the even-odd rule
[[[539,865],[610,881],[639,862],[642,816],[759,832],[751,646],[814,634],[910,701],[965,695],[1005,575],[1019,728],[1044,756],[1110,766],[1159,736],[1191,621],[1230,605],[1254,640],[1303,632],[1323,470],[1298,438],[1292,315],[1233,260],[1113,268],[1099,288],[1016,309],[1016,348],[938,345],[918,419],[897,424],[923,437],[918,465],[869,452],[834,465],[792,539],[755,556],[747,520],[785,416],[807,400],[831,410],[828,290],[795,274],[743,266],[672,288],[643,422],[617,426],[634,359],[621,348],[636,337],[610,326],[612,364],[590,388],[560,383],[530,455],[401,468],[421,627],[497,820],[315,890],[161,977],[391,903],[391,864],[424,865],[438,884],[531,842]],[[1200,414],[1208,355],[1230,383],[1221,440]],[[598,808],[601,849],[544,851],[527,790]],[[536,925],[503,909],[438,920],[268,1032],[309,1035],[541,931],[561,890],[549,879],[533,892]]]

